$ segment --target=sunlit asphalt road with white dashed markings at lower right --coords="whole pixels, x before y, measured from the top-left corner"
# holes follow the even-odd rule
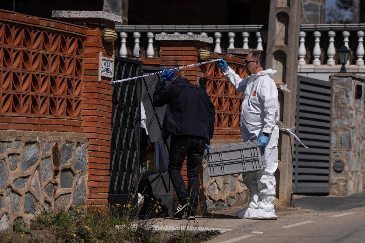
[[[285,214],[285,210],[282,211]],[[365,242],[365,207],[336,212],[300,211],[277,220],[229,219],[220,227],[232,231],[220,234],[208,243],[342,243]],[[253,234],[254,231],[256,234]],[[257,234],[260,233],[260,234]]]

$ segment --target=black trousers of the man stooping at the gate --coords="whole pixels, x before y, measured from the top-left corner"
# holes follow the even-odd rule
[[[169,174],[179,203],[189,199],[195,211],[199,196],[199,168],[203,160],[206,140],[200,137],[171,136]],[[185,186],[181,167],[187,157],[188,189]]]

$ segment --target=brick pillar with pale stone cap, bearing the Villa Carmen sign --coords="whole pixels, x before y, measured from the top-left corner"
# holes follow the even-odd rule
[[[67,16],[68,19],[65,19]],[[52,17],[71,23],[101,23],[115,29],[122,18],[103,11],[53,11]],[[88,27],[84,48],[84,74],[82,77],[82,132],[89,136],[87,204],[94,203],[106,209],[108,205],[112,85],[110,78],[99,77],[100,52],[114,59],[114,45],[104,43],[105,27],[86,24]]]

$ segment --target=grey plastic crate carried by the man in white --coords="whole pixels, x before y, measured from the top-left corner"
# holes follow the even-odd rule
[[[211,177],[261,171],[266,165],[264,149],[257,141],[213,146],[205,157]]]

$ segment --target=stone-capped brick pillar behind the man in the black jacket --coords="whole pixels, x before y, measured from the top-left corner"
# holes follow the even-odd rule
[[[200,48],[207,48],[207,43],[213,43],[213,38],[202,35],[156,35],[156,40],[161,41],[160,55],[161,66],[166,68],[180,67],[199,62],[198,52]],[[207,64],[191,67],[177,71],[177,75],[187,78],[192,84],[196,85],[199,77],[207,78]],[[186,171],[186,161],[181,170],[185,185],[188,185]],[[200,166],[200,191],[199,200],[204,195],[203,192],[203,166]],[[173,207],[177,207],[177,196],[174,191]]]

